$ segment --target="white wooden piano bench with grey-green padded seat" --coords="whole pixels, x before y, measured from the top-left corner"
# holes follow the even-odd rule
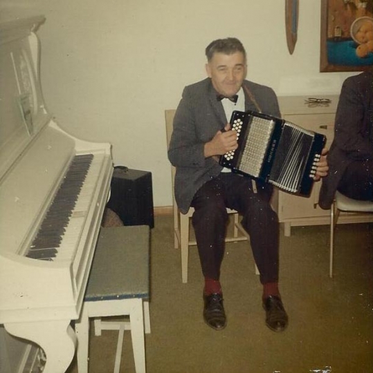
[[[101,321],[107,316],[129,316],[129,321]],[[131,330],[136,373],[145,373],[144,331],[150,333],[147,225],[100,229],[82,314],[75,323],[79,373],[88,372],[89,318],[96,318],[96,335],[102,329],[119,330],[114,373],[120,371],[125,329]]]

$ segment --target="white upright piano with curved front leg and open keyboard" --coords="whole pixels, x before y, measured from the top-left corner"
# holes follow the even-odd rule
[[[66,133],[39,81],[43,16],[0,23],[0,324],[62,373],[109,193],[111,146]]]

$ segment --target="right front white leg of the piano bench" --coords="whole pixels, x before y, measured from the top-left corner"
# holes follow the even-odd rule
[[[143,300],[133,300],[129,320],[131,323],[132,349],[134,350],[134,361],[136,373],[145,373],[145,338],[144,338],[144,314]]]

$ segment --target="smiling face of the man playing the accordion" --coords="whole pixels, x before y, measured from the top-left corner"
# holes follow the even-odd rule
[[[246,77],[244,55],[242,52],[232,55],[215,53],[206,64],[206,72],[215,90],[221,95],[231,97],[239,91]]]

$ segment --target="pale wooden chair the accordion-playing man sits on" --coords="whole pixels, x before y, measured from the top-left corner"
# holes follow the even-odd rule
[[[166,134],[167,134],[167,148],[170,145],[173,121],[174,121],[175,110],[165,111],[165,122],[166,122]],[[171,166],[172,172],[172,202],[173,202],[173,213],[174,213],[174,247],[175,249],[181,249],[181,279],[183,283],[188,283],[188,254],[189,247],[197,245],[195,240],[190,240],[190,218],[193,215],[194,209],[191,207],[188,213],[183,214],[177,207],[175,195],[174,195],[174,178],[175,178],[175,167]],[[227,237],[226,242],[237,242],[242,240],[250,240],[250,236],[244,230],[242,225],[239,223],[239,214],[235,210],[227,209],[229,214],[234,214],[234,227],[233,236]],[[239,231],[242,235],[239,235]],[[255,273],[259,274],[255,265]]]

